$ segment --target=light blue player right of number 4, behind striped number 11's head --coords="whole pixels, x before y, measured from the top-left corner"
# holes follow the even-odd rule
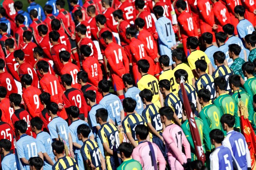
[[[80,149],[83,145],[83,142],[80,141],[78,138],[77,127],[81,124],[85,124],[87,126],[89,126],[89,124],[78,118],[80,115],[79,112],[80,112],[79,108],[76,106],[70,106],[67,109],[68,118],[72,121],[72,123],[69,125],[68,128],[70,131],[70,135],[72,137],[75,158],[76,158],[77,165],[78,165],[79,169],[83,170],[84,162],[83,162],[82,155],[80,153]],[[94,140],[94,136],[93,136],[92,132],[90,132],[89,137],[91,140]]]

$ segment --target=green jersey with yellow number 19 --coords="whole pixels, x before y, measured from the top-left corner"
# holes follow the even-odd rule
[[[220,117],[223,114],[230,114],[235,117],[235,127],[240,128],[240,119],[237,116],[237,105],[235,99],[227,93],[220,94],[213,101],[214,105],[220,108]]]

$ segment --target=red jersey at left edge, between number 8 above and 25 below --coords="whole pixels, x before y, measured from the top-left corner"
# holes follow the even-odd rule
[[[10,107],[10,100],[8,98],[2,99],[0,101],[0,108],[2,110],[1,120],[3,122],[8,123],[13,129],[11,117],[12,117],[12,114],[14,113],[14,110],[12,107]]]

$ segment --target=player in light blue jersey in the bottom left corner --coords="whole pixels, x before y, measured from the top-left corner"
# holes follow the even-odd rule
[[[3,154],[4,158],[1,161],[1,168],[2,169],[17,169],[17,164],[15,155],[12,154],[10,151],[12,149],[11,141],[7,139],[0,140],[0,153]]]

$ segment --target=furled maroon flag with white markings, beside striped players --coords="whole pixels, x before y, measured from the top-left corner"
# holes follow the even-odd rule
[[[185,86],[184,86],[184,78],[182,78],[182,77],[181,77],[181,81],[180,81],[180,88],[182,91],[182,97],[183,97],[183,101],[184,101],[183,105],[184,105],[186,113],[187,113],[188,124],[189,124],[189,128],[190,128],[191,136],[192,136],[193,143],[195,146],[196,157],[198,160],[201,160],[204,164],[205,155],[204,155],[203,145],[201,143],[199,131],[196,126],[196,120],[194,118],[194,115],[192,113],[192,110],[191,110],[191,107],[190,107],[190,104],[188,101],[188,95],[187,95],[187,92],[186,92]]]

